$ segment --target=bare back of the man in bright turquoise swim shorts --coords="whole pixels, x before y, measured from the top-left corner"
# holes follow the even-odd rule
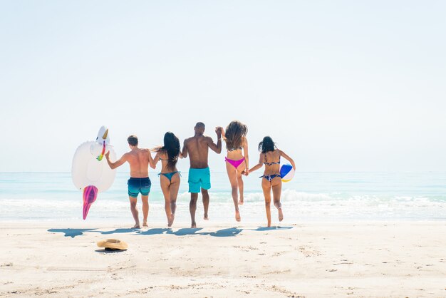
[[[207,157],[209,153],[209,142],[212,138],[205,135],[195,135],[185,140],[185,147],[189,153],[190,168],[207,168]]]

